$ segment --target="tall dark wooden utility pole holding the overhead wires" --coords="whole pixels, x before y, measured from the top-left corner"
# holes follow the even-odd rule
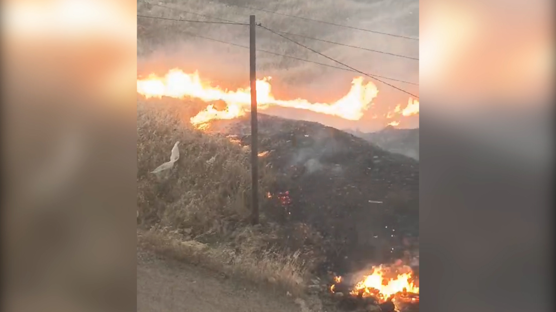
[[[255,66],[255,16],[249,16],[249,74],[251,82],[251,191],[252,224],[259,224],[259,155],[257,144],[257,77]]]

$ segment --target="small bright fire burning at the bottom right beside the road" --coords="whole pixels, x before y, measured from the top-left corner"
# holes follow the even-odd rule
[[[344,282],[341,276],[336,276],[330,291],[336,293]],[[400,310],[404,304],[419,303],[419,281],[409,266],[373,266],[369,274],[349,288],[349,295],[372,297],[379,304],[392,301],[396,310]]]

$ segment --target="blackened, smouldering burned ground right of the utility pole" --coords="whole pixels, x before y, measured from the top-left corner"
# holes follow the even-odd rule
[[[250,120],[211,125],[250,145]],[[419,233],[419,163],[319,123],[259,115],[262,164],[279,173],[262,212],[282,224],[301,222],[324,236],[328,264],[338,273],[400,256],[401,238]],[[328,268],[327,268],[328,269]]]

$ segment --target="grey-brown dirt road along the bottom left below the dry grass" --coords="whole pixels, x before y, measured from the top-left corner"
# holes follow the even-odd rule
[[[137,251],[138,312],[298,312],[300,305],[197,266]]]

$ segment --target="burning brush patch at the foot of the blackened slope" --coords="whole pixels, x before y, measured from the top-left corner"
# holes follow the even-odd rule
[[[419,310],[419,280],[406,265],[373,266],[359,278],[335,276],[330,292],[347,310],[409,312]],[[354,280],[357,280],[354,282]]]

